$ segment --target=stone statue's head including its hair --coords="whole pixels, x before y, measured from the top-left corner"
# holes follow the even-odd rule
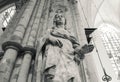
[[[61,13],[57,13],[54,17],[53,23],[58,26],[58,25],[66,25],[66,19]]]

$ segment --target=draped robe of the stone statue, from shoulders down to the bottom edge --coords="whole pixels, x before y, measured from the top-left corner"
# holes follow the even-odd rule
[[[41,49],[45,82],[81,82],[78,64],[74,61],[76,39],[65,29],[49,30]],[[57,40],[52,43],[50,38]]]

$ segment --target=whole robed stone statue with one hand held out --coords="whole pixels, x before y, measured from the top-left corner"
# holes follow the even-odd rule
[[[44,82],[81,82],[78,64],[93,45],[80,47],[76,38],[66,30],[66,19],[59,12],[55,15],[52,29],[41,38],[44,63]]]

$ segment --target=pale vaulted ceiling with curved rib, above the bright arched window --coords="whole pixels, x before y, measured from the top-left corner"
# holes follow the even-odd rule
[[[79,0],[90,27],[109,23],[120,27],[120,0]]]

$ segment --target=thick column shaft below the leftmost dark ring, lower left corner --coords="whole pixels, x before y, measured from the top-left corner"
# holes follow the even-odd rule
[[[0,82],[8,82],[17,57],[17,51],[7,49],[0,62]]]

